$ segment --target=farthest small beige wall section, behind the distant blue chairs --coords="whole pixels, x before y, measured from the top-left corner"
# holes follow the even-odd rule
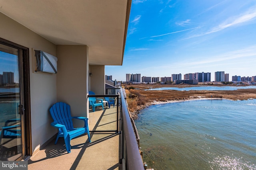
[[[105,66],[104,65],[89,65],[89,72],[92,76],[89,79],[90,91],[95,94],[105,94]]]

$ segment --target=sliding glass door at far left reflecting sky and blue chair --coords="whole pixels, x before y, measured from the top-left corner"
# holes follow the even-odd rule
[[[23,50],[0,43],[0,160],[26,154]]]

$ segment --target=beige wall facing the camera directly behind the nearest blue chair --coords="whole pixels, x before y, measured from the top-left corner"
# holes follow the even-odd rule
[[[87,117],[88,46],[57,45],[57,102],[66,102],[72,116]],[[83,126],[74,121],[74,126]]]

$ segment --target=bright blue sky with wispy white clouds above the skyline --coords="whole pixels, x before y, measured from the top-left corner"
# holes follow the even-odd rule
[[[133,0],[122,66],[106,75],[256,75],[255,0]]]

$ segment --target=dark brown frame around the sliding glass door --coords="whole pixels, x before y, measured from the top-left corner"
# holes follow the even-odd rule
[[[22,70],[19,68],[20,72],[20,86],[23,86],[23,91],[20,92],[23,94],[24,102],[24,121],[22,130],[22,156],[18,160],[27,160],[32,156],[32,137],[31,137],[31,110],[30,110],[30,65],[29,65],[29,49],[22,45],[18,45],[6,39],[0,38],[0,43],[6,46],[10,46],[19,50],[19,57],[22,57],[22,60],[19,59],[19,65],[22,64]],[[22,99],[21,99],[22,100]]]

